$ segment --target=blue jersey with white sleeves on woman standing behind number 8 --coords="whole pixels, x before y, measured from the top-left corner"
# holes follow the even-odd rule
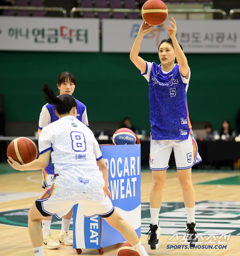
[[[75,99],[75,101],[77,103],[77,119],[79,121],[83,122],[86,126],[88,126],[85,105],[77,99]],[[83,115],[84,115],[84,120],[83,120]],[[49,119],[49,118],[50,118],[50,120],[47,121],[47,119]],[[43,129],[44,126],[46,126],[52,122],[55,122],[57,120],[59,120],[59,118],[55,114],[55,106],[51,105],[51,104],[46,104],[43,106],[43,109],[41,111],[38,128],[41,130],[41,129]],[[40,123],[43,125],[40,126]],[[51,163],[51,159],[50,159],[48,166],[45,168],[45,170],[46,170],[47,174],[54,174],[54,166]]]

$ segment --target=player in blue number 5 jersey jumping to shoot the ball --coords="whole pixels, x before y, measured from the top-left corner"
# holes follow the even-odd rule
[[[145,22],[139,29],[130,53],[131,61],[139,68],[140,74],[149,84],[151,122],[149,166],[153,174],[153,183],[150,192],[151,224],[148,246],[151,249],[159,247],[158,237],[161,234],[161,228],[158,215],[172,148],[187,211],[187,241],[191,246],[198,240],[195,230],[195,192],[191,170],[194,164],[202,160],[193,137],[188,114],[187,90],[190,68],[182,46],[176,39],[176,21],[173,18],[171,20],[165,27],[170,38],[162,40],[158,47],[160,65],[155,62],[146,62],[138,56],[144,35],[153,29],[153,26]]]

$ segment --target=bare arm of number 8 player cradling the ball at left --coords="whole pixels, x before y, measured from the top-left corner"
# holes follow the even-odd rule
[[[34,170],[40,170],[44,169],[48,166],[51,156],[51,150],[48,150],[47,152],[40,154],[39,158],[26,164],[20,164],[19,162],[14,161],[11,157],[9,157],[8,163],[13,169],[19,170],[19,171],[34,171]]]

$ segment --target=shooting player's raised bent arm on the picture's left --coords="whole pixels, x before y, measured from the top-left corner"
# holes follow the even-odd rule
[[[143,58],[139,57],[139,50],[140,50],[140,45],[143,40],[143,36],[149,33],[153,29],[153,26],[148,25],[143,21],[139,32],[137,34],[137,37],[135,39],[135,42],[132,46],[132,50],[130,52],[130,60],[133,62],[133,64],[141,70],[143,73],[146,71],[146,62],[143,60]]]

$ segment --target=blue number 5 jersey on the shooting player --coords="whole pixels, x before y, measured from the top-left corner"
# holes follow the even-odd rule
[[[182,76],[179,65],[169,72],[161,64],[146,62],[145,73],[149,83],[151,135],[154,140],[188,139],[191,123],[188,114],[187,89],[190,79]]]

